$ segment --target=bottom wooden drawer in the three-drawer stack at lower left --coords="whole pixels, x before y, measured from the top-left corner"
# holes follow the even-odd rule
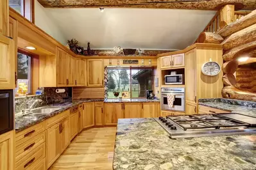
[[[42,160],[42,158],[46,157],[46,146],[45,143],[41,144],[35,150],[28,153],[25,157],[21,158],[15,164],[16,170],[22,169],[31,169],[31,167],[37,164],[37,161]]]

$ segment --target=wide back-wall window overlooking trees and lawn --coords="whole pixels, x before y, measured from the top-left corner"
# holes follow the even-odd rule
[[[108,98],[113,92],[127,91],[129,98],[146,98],[146,90],[153,88],[153,68],[108,68]]]

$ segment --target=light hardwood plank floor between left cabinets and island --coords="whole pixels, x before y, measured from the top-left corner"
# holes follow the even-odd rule
[[[112,169],[115,132],[116,127],[82,131],[49,169]]]

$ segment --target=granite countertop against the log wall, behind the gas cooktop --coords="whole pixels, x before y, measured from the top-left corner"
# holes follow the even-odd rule
[[[256,117],[256,102],[229,98],[200,98],[200,105]]]

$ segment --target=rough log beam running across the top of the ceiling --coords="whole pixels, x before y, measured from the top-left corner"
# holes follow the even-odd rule
[[[169,8],[187,10],[218,10],[235,4],[236,10],[256,8],[255,0],[38,0],[46,8]]]

